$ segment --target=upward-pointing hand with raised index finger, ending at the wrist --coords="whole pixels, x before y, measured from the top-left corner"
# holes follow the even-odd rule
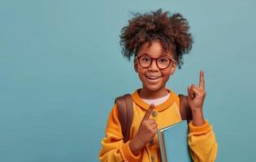
[[[189,86],[188,96],[188,103],[192,113],[202,113],[202,104],[206,97],[205,79],[202,70],[200,71],[199,87],[197,87],[195,84]]]

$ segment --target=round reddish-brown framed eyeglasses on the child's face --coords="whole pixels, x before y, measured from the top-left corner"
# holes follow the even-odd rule
[[[166,57],[160,57],[160,58],[150,58],[148,56],[140,56],[140,57],[135,57],[139,61],[139,64],[147,68],[152,64],[153,60],[156,60],[156,64],[159,69],[163,70],[166,69],[168,66],[171,65],[171,63],[176,63],[176,60],[173,58],[166,58]]]

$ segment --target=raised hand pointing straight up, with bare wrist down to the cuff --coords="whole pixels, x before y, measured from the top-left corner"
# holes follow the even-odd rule
[[[202,105],[206,98],[205,79],[203,71],[200,71],[199,87],[192,84],[188,87],[188,103],[193,115],[193,124],[195,126],[202,126],[204,118],[202,115]]]

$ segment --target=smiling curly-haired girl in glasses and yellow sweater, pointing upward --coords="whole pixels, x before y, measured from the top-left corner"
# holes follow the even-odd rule
[[[183,64],[184,53],[192,48],[193,38],[186,19],[180,14],[170,15],[162,10],[137,14],[128,21],[120,35],[124,57],[134,56],[134,70],[142,87],[132,93],[133,120],[130,139],[124,143],[116,104],[106,125],[99,160],[161,161],[157,130],[170,126],[180,117],[180,97],[166,87],[176,66]],[[195,162],[215,161],[217,143],[209,122],[203,117],[206,96],[205,79],[200,72],[199,86],[188,87],[187,104],[192,112],[189,122],[189,151]]]

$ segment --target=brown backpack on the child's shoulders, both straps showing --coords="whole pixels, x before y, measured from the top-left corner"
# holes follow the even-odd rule
[[[182,120],[192,120],[192,112],[189,108],[189,103],[187,101],[188,96],[179,95],[180,97],[180,116]],[[125,94],[124,96],[119,96],[115,98],[115,103],[117,104],[117,112],[119,113],[119,122],[122,127],[122,134],[124,136],[124,143],[128,142],[130,138],[130,130],[132,126],[133,119],[133,103],[132,96],[130,94]]]

